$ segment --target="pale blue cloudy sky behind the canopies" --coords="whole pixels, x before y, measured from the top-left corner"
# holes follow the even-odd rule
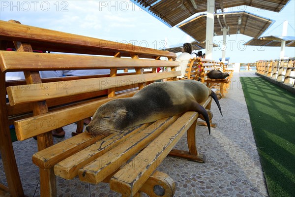
[[[290,0],[279,13],[249,6],[226,11],[247,11],[274,20],[263,36],[281,35],[283,22],[288,20],[287,35],[295,36],[295,0]],[[10,19],[29,26],[154,49],[193,41],[177,26],[166,26],[130,0],[0,0],[0,20]],[[214,36],[213,39],[220,47],[213,49],[212,59],[218,60],[222,54],[222,36]],[[279,58],[280,47],[243,45],[250,39],[243,34],[227,36],[231,44],[227,45],[226,57],[230,57],[230,63]],[[295,57],[295,47],[286,47],[285,56]]]

